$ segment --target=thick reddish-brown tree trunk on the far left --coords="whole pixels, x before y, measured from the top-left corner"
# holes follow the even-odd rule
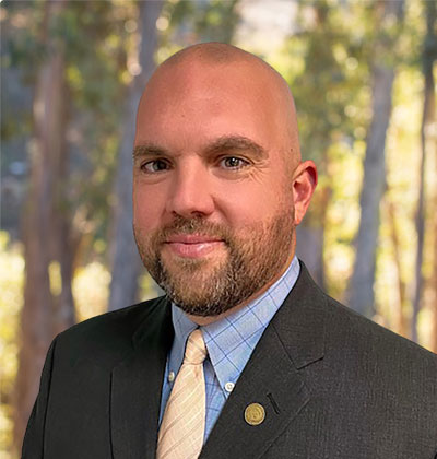
[[[14,448],[19,450],[35,401],[39,376],[50,341],[57,331],[74,322],[71,270],[66,256],[66,215],[62,187],[67,177],[64,57],[60,40],[49,36],[66,1],[44,5],[40,40],[47,50],[36,79],[34,141],[31,148],[31,178],[23,237],[25,287],[21,317],[21,350],[14,393]],[[63,222],[60,224],[60,222]],[[67,247],[67,248],[66,248]],[[62,274],[58,297],[50,290],[49,266],[57,257]]]

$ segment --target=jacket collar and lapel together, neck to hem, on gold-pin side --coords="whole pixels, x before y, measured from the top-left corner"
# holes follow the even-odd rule
[[[285,299],[253,351],[211,432],[202,459],[260,458],[310,400],[302,372],[323,357],[324,294],[304,264]],[[244,412],[260,403],[265,419],[249,425]]]

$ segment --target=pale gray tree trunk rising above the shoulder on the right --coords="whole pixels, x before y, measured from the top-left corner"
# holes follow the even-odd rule
[[[395,15],[402,20],[403,0],[381,1],[383,20]],[[375,314],[375,266],[379,229],[379,203],[386,186],[385,146],[391,115],[394,63],[387,62],[394,45],[393,39],[379,39],[375,47],[373,66],[373,120],[367,134],[364,179],[361,193],[361,221],[356,239],[356,258],[349,285],[349,303],[358,313],[371,317]]]

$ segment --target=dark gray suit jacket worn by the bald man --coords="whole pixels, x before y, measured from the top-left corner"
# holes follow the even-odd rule
[[[167,352],[163,297],[58,336],[23,447],[26,459],[154,458]],[[252,402],[265,409],[245,422]],[[434,459],[437,356],[322,293],[302,266],[201,458]]]

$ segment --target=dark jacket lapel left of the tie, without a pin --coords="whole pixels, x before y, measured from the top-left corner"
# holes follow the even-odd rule
[[[166,303],[156,304],[133,336],[132,353],[113,369],[109,417],[114,459],[155,457],[161,391],[174,333]]]

